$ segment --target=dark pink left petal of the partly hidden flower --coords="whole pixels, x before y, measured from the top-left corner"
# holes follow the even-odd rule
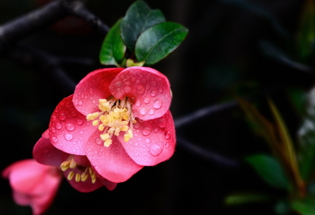
[[[46,131],[45,131],[46,132]],[[45,133],[44,132],[44,133]],[[41,164],[60,166],[63,151],[54,147],[50,139],[41,137],[33,148],[33,158]]]

